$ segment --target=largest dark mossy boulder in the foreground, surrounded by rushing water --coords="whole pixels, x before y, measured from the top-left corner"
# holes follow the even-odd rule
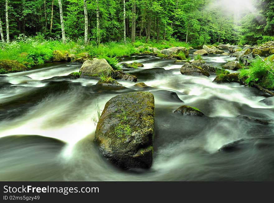
[[[123,169],[150,168],[153,139],[153,94],[122,94],[106,103],[94,141],[109,161]]]

